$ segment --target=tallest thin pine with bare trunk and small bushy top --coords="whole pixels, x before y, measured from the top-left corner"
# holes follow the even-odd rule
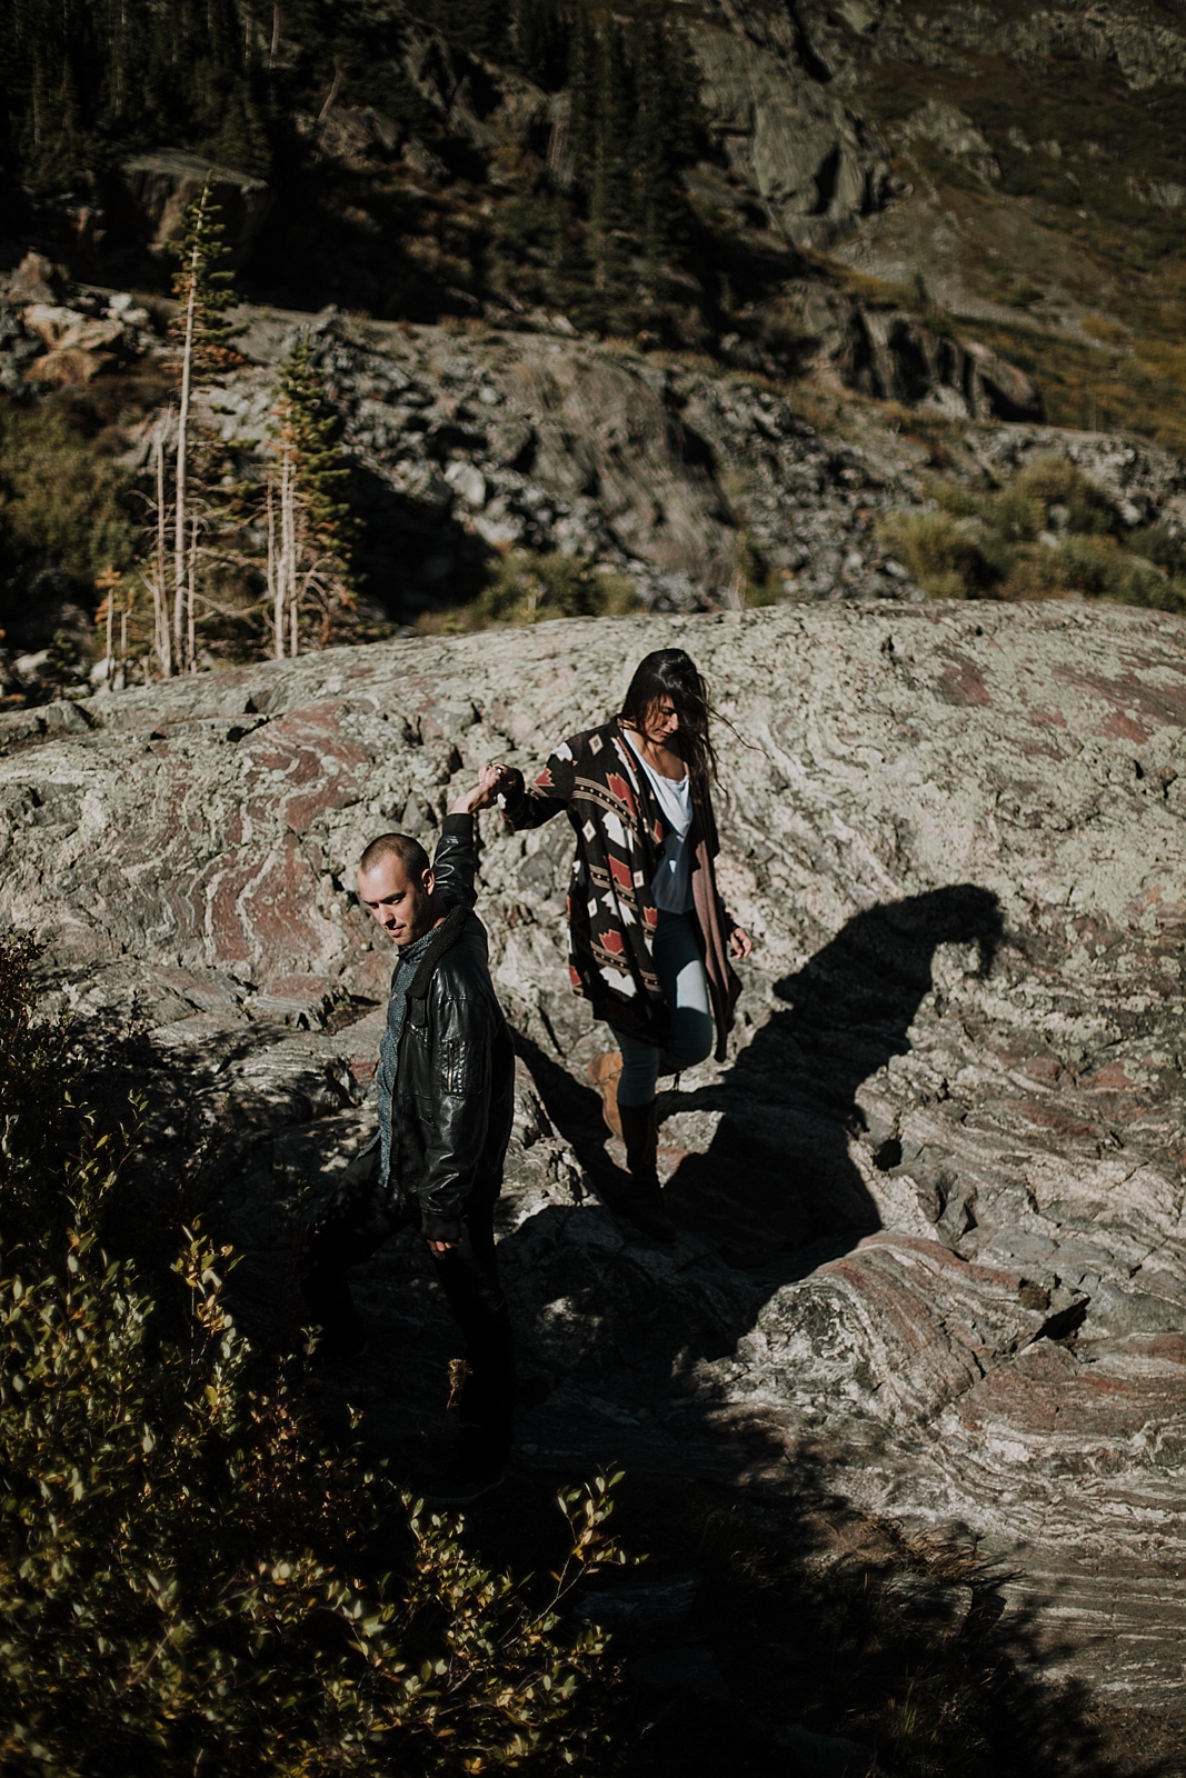
[[[185,212],[181,240],[174,247],[180,263],[172,279],[172,293],[178,299],[172,331],[181,343],[181,400],[172,507],[172,640],[167,647],[167,658],[162,658],[165,677],[174,667],[180,670],[183,658],[187,658],[190,670],[194,669],[197,516],[188,510],[192,384],[196,377],[210,372],[215,364],[226,363],[228,345],[240,331],[222,318],[235,302],[235,276],[224,267],[228,247],[222,240],[220,208],[213,203],[210,190],[212,178],[208,174],[201,194]]]

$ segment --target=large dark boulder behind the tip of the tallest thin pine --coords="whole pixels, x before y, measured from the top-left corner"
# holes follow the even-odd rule
[[[178,148],[132,155],[121,164],[112,222],[121,235],[164,252],[169,242],[181,238],[185,212],[206,178],[213,181],[212,197],[222,212],[224,240],[233,261],[242,263],[272,208],[272,188],[249,172],[219,167]]]

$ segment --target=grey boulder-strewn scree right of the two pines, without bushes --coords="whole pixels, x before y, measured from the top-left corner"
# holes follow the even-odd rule
[[[240,350],[258,370],[203,398],[212,428],[240,448],[263,437],[274,364],[308,325],[245,313]],[[317,327],[361,469],[366,590],[391,615],[439,608],[516,548],[617,569],[660,610],[740,603],[738,589],[921,597],[877,521],[928,501],[935,441],[893,428],[877,407],[816,409],[813,425],[793,389],[557,332],[333,316]],[[146,427],[140,461],[149,437]],[[1006,482],[1067,453],[1126,509],[1129,530],[1186,526],[1186,473],[1134,439],[969,425],[951,443],[958,480]]]

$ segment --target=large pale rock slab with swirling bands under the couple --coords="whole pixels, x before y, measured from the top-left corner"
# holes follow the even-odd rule
[[[482,761],[533,765],[669,644],[736,725],[720,877],[756,937],[725,1063],[661,1099],[674,1248],[599,1198],[621,1154],[564,985],[569,832],[482,821],[519,1049],[521,1462],[825,1492],[914,1542],[958,1524],[1046,1677],[1179,1709],[1181,622],[651,615],[94,697],[76,731],[20,713],[4,916],[48,942],[46,1003],[148,1093],[146,1191],[201,1165],[272,1337],[295,1230],[373,1118],[391,960],[350,893],[363,843],[430,843]],[[441,1421],[455,1335],[411,1237],[359,1300],[373,1342],[334,1389],[402,1449]],[[967,1611],[932,1595],[898,1606]]]

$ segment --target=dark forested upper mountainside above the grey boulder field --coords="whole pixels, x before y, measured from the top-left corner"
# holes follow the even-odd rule
[[[50,50],[48,9],[43,53],[69,68],[92,139],[84,153],[62,124],[52,155],[46,119],[37,153],[14,142],[27,197],[7,194],[9,251],[37,236],[76,276],[160,283],[197,151],[222,167],[249,293],[268,302],[558,313],[775,375],[837,364],[875,395],[900,393],[871,350],[898,315],[1021,356],[1060,425],[1186,443],[1175,0],[720,0],[660,7],[645,28],[549,0],[388,0],[340,7],[333,36],[313,11],[240,11],[238,48],[217,7],[210,43],[178,14],[199,32],[188,53],[226,68],[162,110],[153,57],[176,46],[128,60],[100,7],[89,69],[85,32]],[[112,110],[110,78],[94,87],[105,59],[144,85],[139,110]]]

